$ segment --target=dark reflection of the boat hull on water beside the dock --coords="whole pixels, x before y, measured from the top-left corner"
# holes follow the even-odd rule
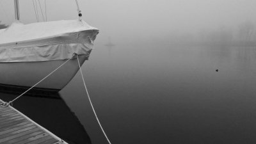
[[[18,96],[18,93],[10,93],[10,91],[6,93],[6,91],[0,90],[0,99],[13,100]],[[15,100],[13,107],[67,143],[91,143],[83,125],[61,99],[59,93],[52,93],[51,98],[49,95],[44,97],[42,93],[39,95],[40,97],[30,96],[31,94],[23,95]]]

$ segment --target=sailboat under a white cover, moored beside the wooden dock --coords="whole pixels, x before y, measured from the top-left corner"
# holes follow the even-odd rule
[[[76,1],[77,2],[77,1]],[[60,91],[88,60],[99,29],[82,19],[22,24],[19,0],[14,0],[15,22],[0,29],[0,86],[30,88],[70,59],[34,90]],[[73,58],[74,57],[74,58]]]

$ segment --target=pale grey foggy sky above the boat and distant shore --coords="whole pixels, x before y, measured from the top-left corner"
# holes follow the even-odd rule
[[[99,42],[114,43],[196,33],[244,21],[256,24],[255,0],[78,0],[83,19],[99,28]],[[44,0],[40,0],[44,11]],[[48,20],[77,19],[75,0],[46,0]],[[0,0],[0,20],[13,21],[13,1]],[[36,22],[32,0],[20,0],[23,23]],[[42,16],[41,16],[42,17]]]

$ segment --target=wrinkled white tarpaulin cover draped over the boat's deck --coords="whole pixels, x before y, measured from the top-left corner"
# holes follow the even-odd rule
[[[90,55],[99,29],[83,20],[22,24],[0,29],[0,62],[66,60]]]

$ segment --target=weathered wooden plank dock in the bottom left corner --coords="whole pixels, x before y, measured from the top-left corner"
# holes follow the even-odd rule
[[[0,143],[67,144],[12,106],[0,108]]]

